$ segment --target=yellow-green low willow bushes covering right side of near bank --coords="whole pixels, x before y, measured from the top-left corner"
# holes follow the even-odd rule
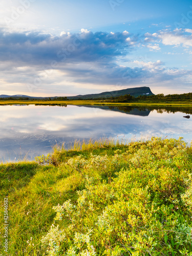
[[[53,207],[42,254],[192,255],[191,146],[152,138],[94,150],[57,152],[53,189],[70,186],[73,198]]]

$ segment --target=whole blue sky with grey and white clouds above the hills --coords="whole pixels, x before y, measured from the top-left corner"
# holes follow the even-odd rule
[[[191,79],[191,1],[0,2],[0,95],[166,95]]]

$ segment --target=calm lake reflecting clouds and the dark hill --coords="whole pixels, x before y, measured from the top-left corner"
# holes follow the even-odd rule
[[[46,155],[52,146],[101,137],[131,140],[152,136],[192,140],[192,108],[153,106],[1,105],[0,160]]]

